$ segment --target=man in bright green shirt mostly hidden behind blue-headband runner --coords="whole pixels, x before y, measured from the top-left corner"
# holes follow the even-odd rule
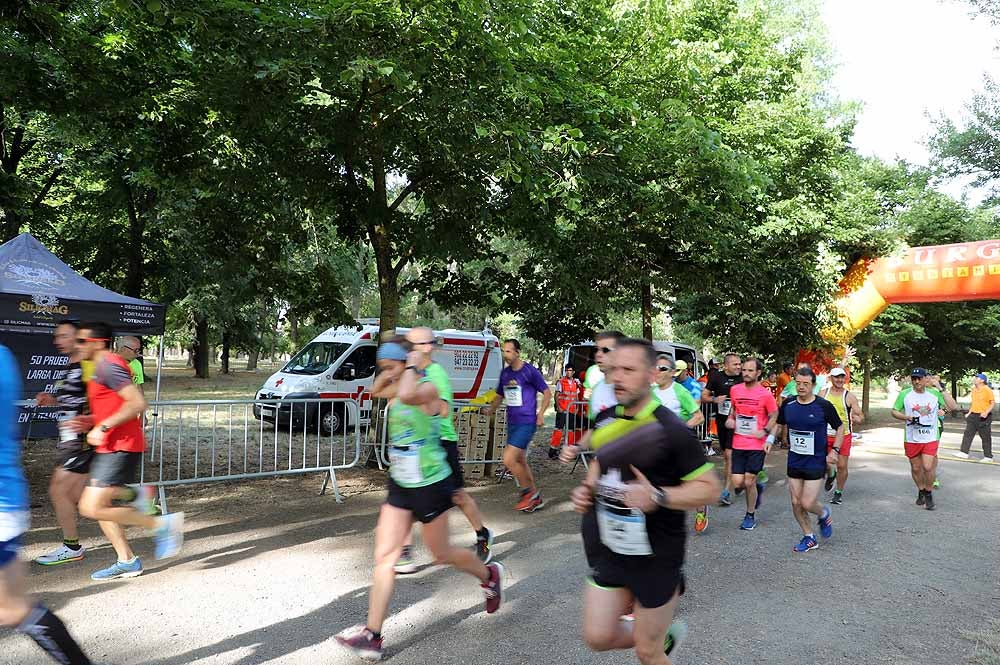
[[[452,420],[452,407],[454,406],[454,393],[451,389],[451,381],[448,373],[441,365],[432,360],[434,351],[434,331],[430,328],[413,328],[405,338],[394,339],[399,343],[406,339],[410,347],[421,356],[421,361],[417,363],[417,369],[424,372],[427,380],[437,388],[438,396],[441,399],[441,411],[439,415],[441,446],[448,453],[448,466],[451,467],[451,477],[453,493],[452,503],[458,506],[465,518],[469,520],[472,530],[476,533],[476,556],[483,563],[489,563],[493,558],[491,548],[493,547],[493,532],[483,525],[483,516],[479,512],[479,505],[475,499],[465,491],[465,480],[462,474],[462,463],[458,455],[458,434],[455,432],[455,425]],[[389,380],[391,374],[382,375],[375,380],[372,385],[372,396],[380,399],[392,399],[396,396],[399,383]],[[413,560],[413,535],[412,532],[403,544],[402,552],[396,561],[397,573],[417,572],[416,563]]]

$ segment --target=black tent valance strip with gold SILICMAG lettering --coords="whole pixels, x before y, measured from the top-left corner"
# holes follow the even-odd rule
[[[116,334],[159,335],[165,308],[138,303],[64,300],[55,296],[0,293],[0,327],[50,333],[63,319],[102,321]]]

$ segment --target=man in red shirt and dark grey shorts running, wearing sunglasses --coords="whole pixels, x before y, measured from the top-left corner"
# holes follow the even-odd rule
[[[125,526],[141,526],[153,532],[156,558],[176,555],[184,542],[184,513],[155,517],[153,488],[128,487],[138,480],[146,440],[139,417],[146,400],[132,382],[125,360],[110,351],[111,328],[106,323],[81,323],[76,348],[82,359],[94,362],[94,377],[87,382],[90,416],[77,416],[92,429],[87,445],[96,453],[90,466],[90,482],[80,497],[80,514],[101,525],[118,554],[118,560],[90,576],[104,581],[137,577],[142,563],[125,539]],[[115,506],[115,502],[131,502]]]

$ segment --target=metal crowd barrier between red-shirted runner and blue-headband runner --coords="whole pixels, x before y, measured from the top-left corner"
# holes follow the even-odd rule
[[[306,473],[325,473],[320,493],[332,484],[340,503],[336,471],[358,464],[369,425],[353,399],[160,401],[147,413],[140,482],[164,511],[166,487]]]

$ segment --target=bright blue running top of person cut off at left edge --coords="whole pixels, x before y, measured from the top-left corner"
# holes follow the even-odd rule
[[[20,368],[10,349],[0,344],[0,513],[28,510],[15,404],[20,398]]]

